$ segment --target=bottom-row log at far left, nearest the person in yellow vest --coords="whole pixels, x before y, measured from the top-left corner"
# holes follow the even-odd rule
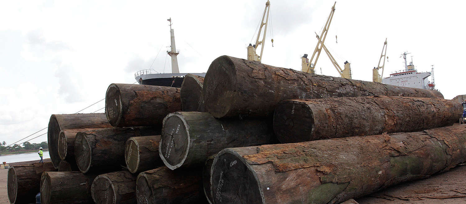
[[[55,171],[52,162],[10,166],[7,175],[8,199],[12,204],[35,203],[44,171]]]

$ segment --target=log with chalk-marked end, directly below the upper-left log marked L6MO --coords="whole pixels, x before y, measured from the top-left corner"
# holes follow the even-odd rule
[[[121,169],[125,165],[125,142],[130,137],[160,134],[159,128],[125,127],[78,132],[75,139],[75,159],[79,171]]]

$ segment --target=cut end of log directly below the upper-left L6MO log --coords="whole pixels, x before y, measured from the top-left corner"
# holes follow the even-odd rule
[[[75,159],[79,171],[86,173],[89,171],[91,162],[91,148],[85,134],[78,132],[75,140]]]

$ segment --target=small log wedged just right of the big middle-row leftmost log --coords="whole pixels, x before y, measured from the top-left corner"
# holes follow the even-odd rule
[[[89,130],[97,130],[100,128],[90,129],[69,129],[69,130],[62,130],[60,132],[60,136],[58,137],[58,155],[60,159],[68,161],[70,164],[76,163],[75,160],[75,138],[76,133],[89,131]],[[78,170],[75,170],[78,171]]]

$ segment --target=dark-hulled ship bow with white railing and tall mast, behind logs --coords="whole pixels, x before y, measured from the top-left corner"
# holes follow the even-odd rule
[[[178,59],[179,50],[175,46],[175,33],[171,28],[171,18],[167,19],[170,22],[170,49],[167,51],[167,54],[171,57],[171,73],[160,73],[154,69],[144,69],[134,73],[134,79],[137,83],[143,85],[153,85],[153,86],[170,86],[170,87],[181,87],[183,79],[188,73],[180,73],[178,68]],[[190,73],[198,75],[201,77],[206,76],[206,73]]]

